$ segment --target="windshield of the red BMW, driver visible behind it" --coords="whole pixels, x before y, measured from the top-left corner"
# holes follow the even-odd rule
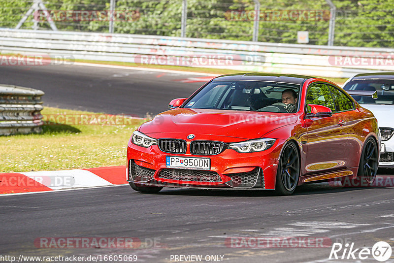
[[[185,108],[294,113],[299,87],[263,81],[213,81],[189,99]],[[291,102],[294,106],[289,109],[286,105]]]

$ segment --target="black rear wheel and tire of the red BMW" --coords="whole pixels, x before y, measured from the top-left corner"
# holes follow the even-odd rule
[[[357,179],[355,179],[358,182],[355,182],[355,185],[371,186],[375,182],[379,166],[378,156],[377,143],[373,138],[369,137],[361,152],[359,170]]]

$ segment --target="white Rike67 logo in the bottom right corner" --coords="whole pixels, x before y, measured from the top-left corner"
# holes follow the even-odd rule
[[[369,248],[355,248],[354,242],[342,245],[341,243],[333,243],[331,252],[329,253],[330,260],[366,260],[371,259],[371,256],[380,262],[390,259],[392,255],[392,248],[389,243],[385,241],[376,242],[372,250]]]

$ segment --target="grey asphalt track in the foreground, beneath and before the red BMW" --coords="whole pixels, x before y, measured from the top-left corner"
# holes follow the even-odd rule
[[[137,255],[137,262],[152,263],[178,262],[171,255],[221,255],[231,263],[356,262],[328,261],[330,247],[234,248],[226,239],[328,237],[354,242],[355,248],[371,248],[377,241],[393,246],[393,204],[393,188],[327,184],[302,186],[289,197],[169,188],[140,194],[129,185],[3,196],[0,251],[16,257]],[[40,237],[136,237],[145,247],[37,248],[34,240]],[[377,261],[370,257],[362,262]]]

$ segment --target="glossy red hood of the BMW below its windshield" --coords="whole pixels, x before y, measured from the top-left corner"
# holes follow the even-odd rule
[[[157,115],[139,131],[254,139],[296,120],[296,114],[287,113],[177,108]]]

